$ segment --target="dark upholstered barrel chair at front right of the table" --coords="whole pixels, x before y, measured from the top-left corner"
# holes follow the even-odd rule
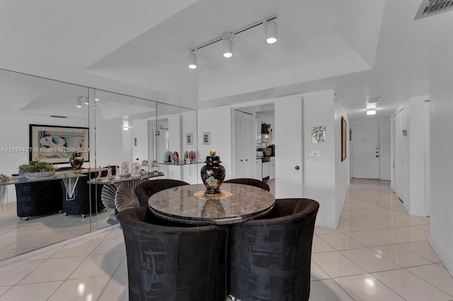
[[[242,301],[309,300],[319,203],[277,199],[267,216],[230,228],[229,294]]]

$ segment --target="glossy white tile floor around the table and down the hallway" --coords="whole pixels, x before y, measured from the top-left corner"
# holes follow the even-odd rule
[[[316,227],[310,300],[453,300],[453,278],[389,182],[353,179],[338,230]],[[122,231],[111,226],[0,261],[0,301],[127,300]]]

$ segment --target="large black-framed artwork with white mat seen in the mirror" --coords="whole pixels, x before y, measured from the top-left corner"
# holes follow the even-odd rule
[[[76,151],[89,162],[91,150],[87,127],[30,124],[30,161],[69,163]]]

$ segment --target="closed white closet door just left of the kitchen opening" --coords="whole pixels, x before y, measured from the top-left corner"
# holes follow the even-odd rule
[[[234,110],[234,165],[233,177],[253,178],[253,162],[255,162],[255,143],[253,143],[253,116],[246,112]]]

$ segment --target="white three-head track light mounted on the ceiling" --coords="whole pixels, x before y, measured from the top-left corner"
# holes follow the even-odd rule
[[[220,42],[220,41],[222,41],[223,57],[226,57],[227,59],[233,57],[234,37],[237,34],[243,33],[244,31],[249,30],[251,28],[255,28],[258,25],[263,25],[265,28],[265,43],[268,45],[275,44],[277,42],[277,23],[275,22],[276,18],[277,18],[277,16],[270,16],[269,18],[265,18],[263,20],[259,20],[258,22],[251,23],[247,26],[244,26],[243,28],[239,28],[238,30],[224,33],[220,37],[216,37],[215,39],[202,43],[202,44],[198,45],[197,47],[190,48],[190,52],[188,54],[189,69],[197,69],[197,58],[198,58],[197,51],[198,51],[198,49],[207,47],[209,45],[212,45],[212,44]]]

